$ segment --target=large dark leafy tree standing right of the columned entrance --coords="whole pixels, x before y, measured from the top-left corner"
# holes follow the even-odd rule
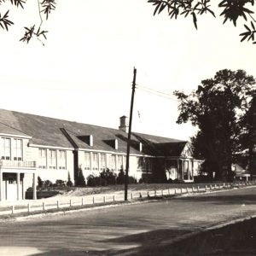
[[[243,70],[221,70],[201,81],[190,95],[175,91],[180,101],[177,123],[191,121],[199,131],[192,138],[195,156],[205,159],[204,172],[216,179],[231,178],[241,135],[241,119],[255,92],[255,79]]]

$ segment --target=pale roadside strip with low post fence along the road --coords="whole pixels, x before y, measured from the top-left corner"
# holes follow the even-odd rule
[[[139,191],[128,190],[128,200],[137,201],[138,199],[151,199],[175,196],[175,195],[192,195],[197,193],[207,193],[216,192],[223,189],[233,189],[240,187],[247,187],[255,185],[255,182],[251,183],[218,183],[218,184],[208,184],[205,187],[199,187],[196,184],[192,186],[188,185],[186,188],[177,189],[158,189],[158,190],[146,190],[142,189]],[[116,204],[117,202],[124,202],[124,191],[114,191],[106,194],[96,194],[96,195],[85,195],[85,196],[68,196],[68,195],[55,195],[54,197],[49,197],[40,200],[25,200],[25,201],[15,201],[0,202],[0,216],[12,215],[15,213],[26,213],[29,215],[32,212],[46,212],[49,210],[55,210],[54,212],[71,210],[83,207],[96,207],[99,205],[109,205]]]

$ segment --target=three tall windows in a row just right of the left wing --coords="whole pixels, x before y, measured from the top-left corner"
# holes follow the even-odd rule
[[[65,150],[38,149],[38,168],[67,169],[67,154]]]

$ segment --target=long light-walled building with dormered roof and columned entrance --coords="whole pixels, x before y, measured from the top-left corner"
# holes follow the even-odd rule
[[[111,129],[0,109],[0,201],[22,200],[28,187],[36,198],[38,177],[75,184],[81,171],[85,180],[107,168],[118,174],[125,170],[127,131],[125,116]],[[137,181],[161,172],[193,182],[200,164],[186,141],[131,135],[129,176]]]

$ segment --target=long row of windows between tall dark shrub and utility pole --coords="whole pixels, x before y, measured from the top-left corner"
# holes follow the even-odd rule
[[[108,168],[114,172],[125,170],[125,164],[125,155],[111,154],[107,166],[107,154],[84,152],[84,170],[103,171]]]

